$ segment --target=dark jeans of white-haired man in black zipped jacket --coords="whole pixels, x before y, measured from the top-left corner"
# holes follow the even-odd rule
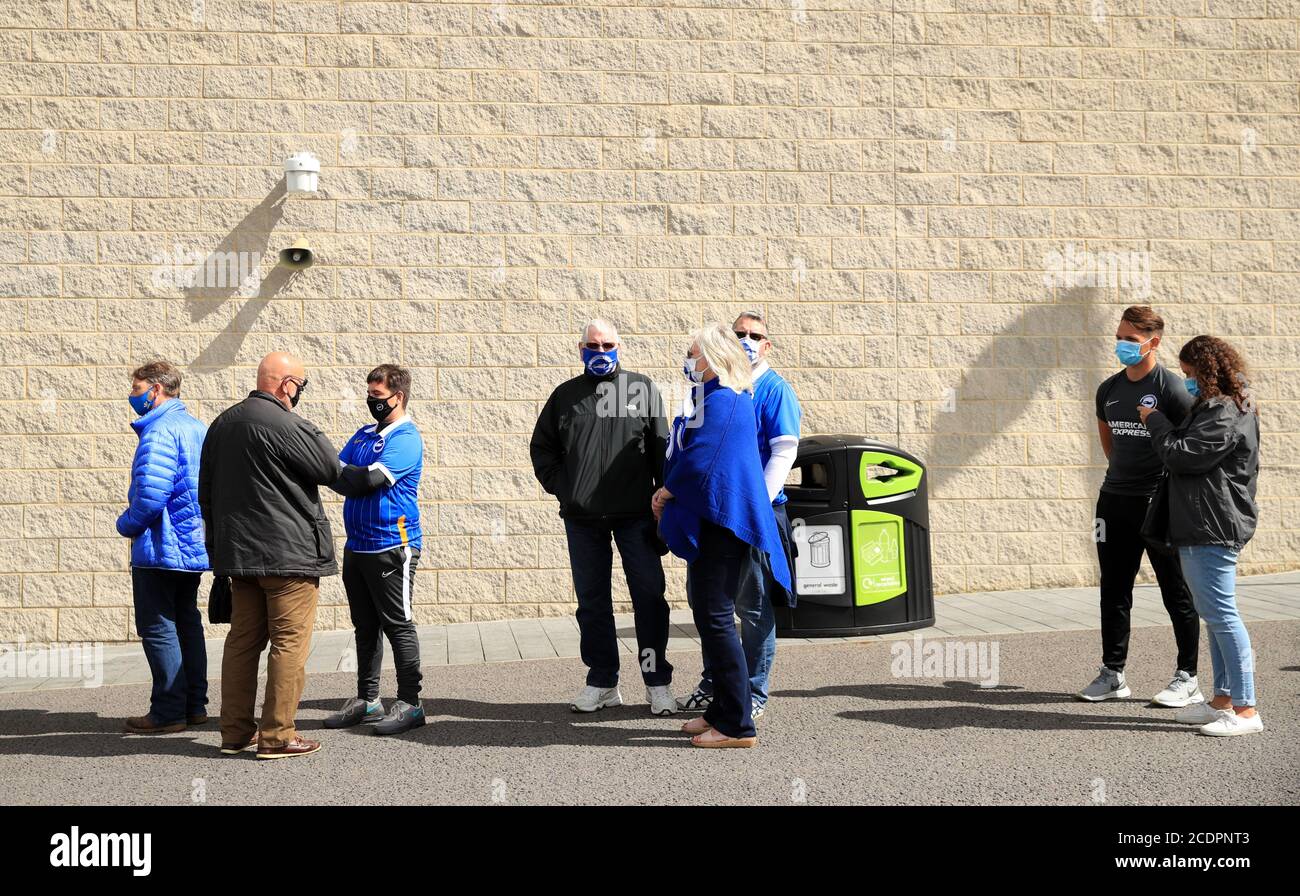
[[[619,639],[614,626],[614,549],[619,546],[623,575],[632,596],[637,629],[637,662],[646,687],[670,684],[668,601],[664,600],[663,560],[659,559],[654,519],[564,520],[569,567],[577,592],[580,652],[586,683],[612,688],[619,683]]]

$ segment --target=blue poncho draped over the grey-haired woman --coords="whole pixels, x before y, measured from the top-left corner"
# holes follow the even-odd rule
[[[659,536],[689,563],[699,555],[701,520],[731,529],[768,555],[772,577],[789,592],[790,570],[758,455],[754,397],[724,389],[716,378],[702,391],[694,412],[673,421],[664,462],[672,501],[659,519]]]

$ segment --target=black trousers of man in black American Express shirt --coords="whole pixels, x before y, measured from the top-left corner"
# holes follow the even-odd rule
[[[1141,536],[1147,498],[1110,494],[1097,497],[1097,519],[1105,528],[1097,533],[1097,560],[1101,564],[1101,662],[1117,672],[1128,659],[1130,613],[1134,606],[1134,580],[1143,551],[1160,583],[1160,596],[1174,624],[1178,668],[1196,675],[1201,620],[1192,603],[1192,592],[1183,581],[1176,549],[1154,547]]]

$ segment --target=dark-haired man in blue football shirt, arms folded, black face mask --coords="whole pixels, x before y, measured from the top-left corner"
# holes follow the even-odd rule
[[[424,440],[406,412],[411,372],[380,364],[365,377],[374,423],[361,427],[338,453],[342,472],[332,485],[344,497],[343,588],[356,628],[356,697],[325,719],[326,728],[374,722],[394,735],[424,724],[420,705],[420,641],[411,614],[420,560],[420,472]],[[384,636],[393,645],[398,698],[384,714],[380,663]]]

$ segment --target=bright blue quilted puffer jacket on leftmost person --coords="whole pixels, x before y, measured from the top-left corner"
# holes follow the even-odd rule
[[[131,427],[140,437],[131,462],[127,507],[117,532],[131,538],[131,566],[202,572],[208,568],[199,514],[199,455],[208,428],[179,398]]]

